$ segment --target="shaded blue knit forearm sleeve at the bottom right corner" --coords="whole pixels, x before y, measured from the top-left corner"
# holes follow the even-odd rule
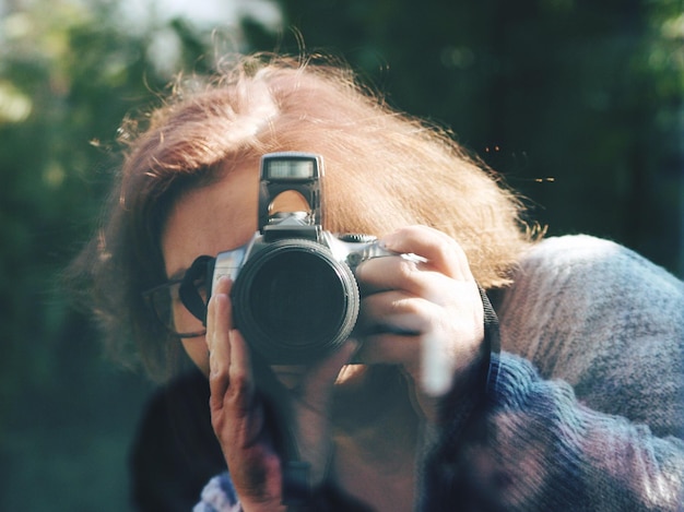
[[[681,439],[585,407],[520,357],[492,365],[482,409],[428,457],[422,510],[684,510]]]

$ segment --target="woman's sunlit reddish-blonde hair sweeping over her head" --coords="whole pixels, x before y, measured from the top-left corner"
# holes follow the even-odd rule
[[[485,288],[508,284],[532,242],[516,194],[448,131],[393,110],[325,58],[240,57],[208,82],[179,82],[134,131],[123,127],[129,151],[109,215],[74,267],[105,331],[120,340],[130,320],[149,364],[162,333],[141,312],[140,293],[165,279],[160,235],[169,209],[238,165],[258,172],[264,153],[322,155],[326,229],[438,228],[461,245]]]

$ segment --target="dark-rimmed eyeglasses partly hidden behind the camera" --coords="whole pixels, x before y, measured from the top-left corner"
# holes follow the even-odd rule
[[[190,310],[181,300],[180,286],[186,278],[172,279],[163,285],[143,291],[142,297],[156,319],[172,334],[178,337],[197,337],[207,333],[202,320]],[[203,278],[192,281],[197,296],[207,308],[207,284]]]

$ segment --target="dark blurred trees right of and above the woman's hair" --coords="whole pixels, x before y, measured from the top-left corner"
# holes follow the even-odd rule
[[[281,4],[309,51],[451,127],[550,234],[613,238],[684,275],[681,0]]]

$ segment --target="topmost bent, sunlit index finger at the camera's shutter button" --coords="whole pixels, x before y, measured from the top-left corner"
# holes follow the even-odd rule
[[[414,253],[425,258],[435,270],[457,278],[472,278],[468,258],[453,238],[427,227],[410,226],[384,237],[380,243],[387,250]]]

